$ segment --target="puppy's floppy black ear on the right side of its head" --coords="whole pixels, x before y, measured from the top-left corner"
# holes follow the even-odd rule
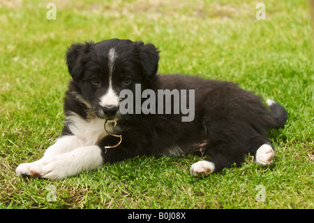
[[[142,72],[147,80],[152,80],[158,71],[159,51],[151,43],[135,42],[142,64]]]

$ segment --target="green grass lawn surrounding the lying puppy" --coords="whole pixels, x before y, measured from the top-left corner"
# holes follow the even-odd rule
[[[307,1],[50,1],[0,3],[0,208],[314,208],[313,29]],[[175,2],[175,3],[174,3]],[[74,42],[107,38],[158,46],[160,73],[238,82],[283,104],[271,130],[274,165],[248,156],[240,168],[195,178],[198,157],[137,157],[57,181],[17,178],[61,132]],[[47,201],[56,189],[57,201]],[[264,186],[265,201],[257,201]]]

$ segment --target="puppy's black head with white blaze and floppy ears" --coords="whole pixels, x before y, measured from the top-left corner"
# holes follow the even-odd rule
[[[68,48],[68,72],[82,99],[93,112],[107,120],[120,117],[119,93],[149,88],[158,70],[158,50],[151,43],[111,39],[99,43],[78,43]]]

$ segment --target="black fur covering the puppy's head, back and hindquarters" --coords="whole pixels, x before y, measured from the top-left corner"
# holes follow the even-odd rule
[[[112,87],[118,95],[122,89],[134,92],[136,83],[141,84],[142,91],[195,89],[195,118],[193,122],[182,122],[182,114],[119,115],[114,134],[122,135],[121,144],[105,150],[104,146],[116,145],[119,139],[105,136],[98,141],[104,163],[144,154],[172,154],[171,148],[180,148],[177,154],[183,155],[192,152],[197,143],[207,142],[203,152],[213,156],[209,161],[214,162],[215,171],[221,171],[234,163],[240,164],[245,154],[255,154],[261,145],[271,145],[267,129],[282,127],[287,120],[281,105],[274,103],[269,109],[260,96],[232,82],[156,74],[159,52],[154,45],[117,39],[74,44],[68,49],[66,62],[73,80],[66,92],[66,115],[76,113],[87,121],[101,117],[98,99],[109,87],[107,55],[110,48],[119,55],[112,73]],[[93,75],[100,79],[100,86],[91,83]],[[122,82],[126,75],[132,78],[128,85]],[[72,134],[67,124],[62,134]]]

